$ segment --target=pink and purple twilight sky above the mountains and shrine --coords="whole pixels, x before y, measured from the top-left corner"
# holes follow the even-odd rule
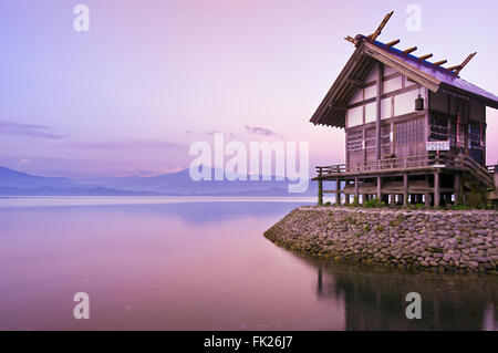
[[[90,32],[73,29],[76,4]],[[422,8],[409,32],[406,8]],[[350,58],[346,35],[460,63],[498,93],[498,2],[17,0],[0,3],[0,165],[74,178],[187,168],[195,141],[310,142],[310,164],[343,163],[343,131],[310,116]],[[488,162],[498,160],[488,110]]]

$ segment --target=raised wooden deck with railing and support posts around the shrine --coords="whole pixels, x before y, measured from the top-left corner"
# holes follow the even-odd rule
[[[464,176],[480,188],[495,189],[495,169],[496,166],[484,167],[467,155],[442,153],[317,167],[318,176],[313,180],[319,181],[319,204],[323,203],[323,194],[335,194],[336,203],[341,203],[341,195],[344,195],[346,204],[351,195],[356,199],[363,195],[363,201],[391,195],[391,203],[401,199],[404,205],[412,195],[412,201],[424,199],[426,205],[439,206],[442,199],[448,201],[452,195],[455,201],[461,200]],[[453,177],[450,184],[446,177],[442,183],[440,178],[448,175]],[[330,180],[335,181],[336,187],[324,190],[323,181]]]

